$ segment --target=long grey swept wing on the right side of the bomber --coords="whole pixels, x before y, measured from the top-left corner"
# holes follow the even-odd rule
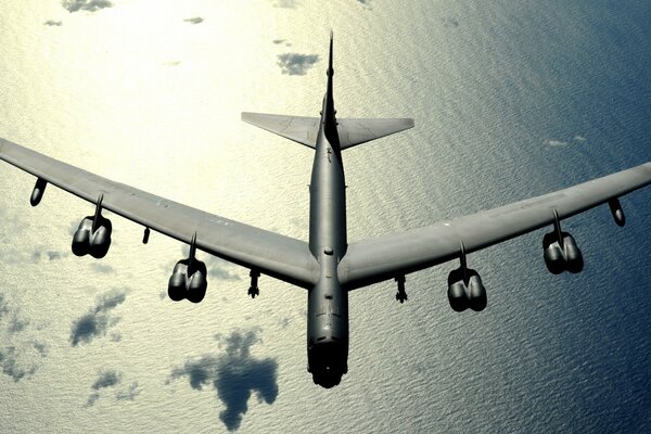
[[[553,193],[401,233],[350,243],[339,266],[349,290],[443,264],[583,213],[651,183],[651,163]]]

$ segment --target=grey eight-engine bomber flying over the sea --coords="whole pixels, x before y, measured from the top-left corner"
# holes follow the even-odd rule
[[[468,255],[502,241],[550,227],[542,238],[550,272],[582,271],[584,261],[575,239],[562,220],[608,203],[618,226],[625,216],[618,197],[651,183],[651,162],[564,190],[527,199],[438,224],[349,242],[346,235],[346,183],[342,151],[413,127],[410,118],[337,118],[333,99],[333,37],[327,69],[327,90],[320,117],[242,113],[242,120],[301,143],[314,151],[309,187],[308,242],[216,216],[136,188],[93,175],[30,149],[0,139],[0,158],[37,177],[30,195],[36,206],[48,183],[95,206],[73,235],[72,251],[102,258],[108,252],[111,221],[106,209],[190,245],[168,281],[168,296],[201,302],[207,270],[196,258],[202,251],[251,270],[248,295],[259,295],[258,278],[270,276],[307,290],[307,361],[315,384],[330,388],[347,373],[348,292],[395,280],[396,299],[407,301],[408,273],[451,260],[459,266],[448,276],[448,301],[455,311],[486,307],[480,273],[469,268]]]

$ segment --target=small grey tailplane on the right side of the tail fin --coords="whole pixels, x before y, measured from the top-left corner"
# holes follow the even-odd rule
[[[413,119],[336,119],[342,150],[413,128]]]

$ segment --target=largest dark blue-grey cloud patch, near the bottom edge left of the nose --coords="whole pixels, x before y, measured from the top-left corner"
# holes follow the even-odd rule
[[[256,359],[251,347],[260,342],[260,329],[233,331],[229,336],[215,336],[225,353],[218,356],[204,355],[188,360],[171,372],[171,379],[187,376],[190,386],[201,391],[212,386],[226,408],[219,419],[229,431],[240,427],[248,411],[248,399],[253,393],[258,401],[273,404],[278,397],[278,362],[275,359]]]

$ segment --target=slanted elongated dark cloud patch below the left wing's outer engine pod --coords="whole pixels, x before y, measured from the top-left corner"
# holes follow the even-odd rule
[[[119,317],[110,315],[111,310],[124,303],[126,296],[126,291],[117,290],[100,296],[94,308],[73,322],[71,345],[77,346],[79,343],[90,343],[97,336],[105,336],[108,328],[119,321]]]

